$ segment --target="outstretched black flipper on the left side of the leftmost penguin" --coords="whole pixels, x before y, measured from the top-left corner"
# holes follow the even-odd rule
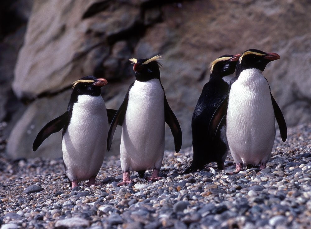
[[[34,144],[32,145],[32,150],[36,151],[47,137],[63,129],[67,121],[68,112],[66,111],[61,116],[53,119],[48,124],[46,124],[36,136]]]

